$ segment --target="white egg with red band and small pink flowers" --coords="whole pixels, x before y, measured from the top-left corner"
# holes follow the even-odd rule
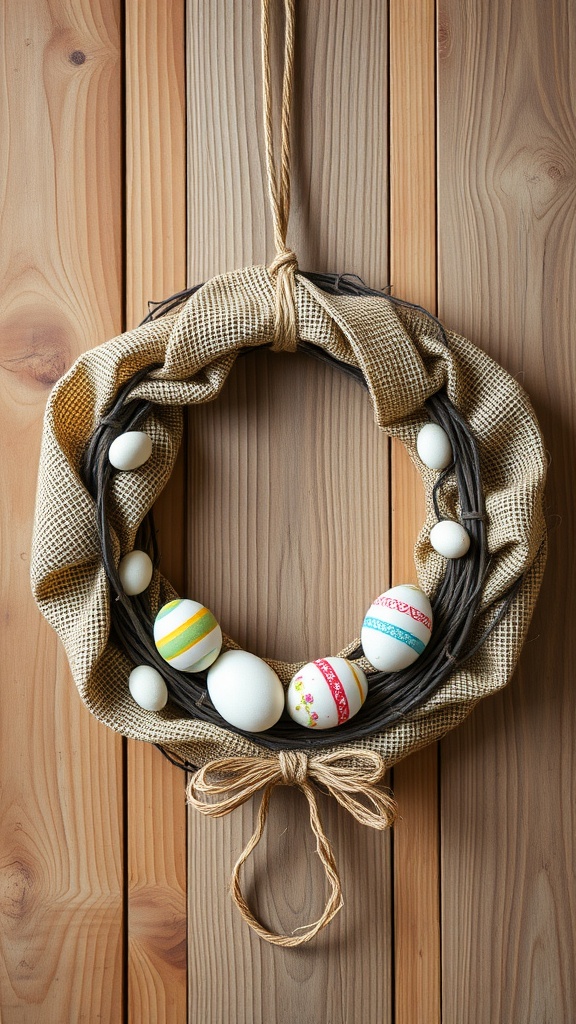
[[[367,693],[368,681],[359,665],[345,657],[319,657],[291,679],[286,710],[306,729],[333,729],[360,711]]]

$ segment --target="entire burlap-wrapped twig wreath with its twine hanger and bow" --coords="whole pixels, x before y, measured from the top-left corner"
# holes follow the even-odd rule
[[[485,352],[419,307],[371,290],[355,276],[298,271],[286,247],[293,3],[286,0],[278,175],[270,123],[268,6],[264,0],[268,170],[277,257],[270,267],[227,273],[167,300],[140,327],[80,356],[58,381],[45,415],[32,581],[89,710],[125,736],[156,743],[176,763],[194,768],[188,795],[195,807],[223,814],[262,791],[256,829],[236,864],[232,892],[259,935],[298,945],[341,905],[316,787],[363,823],[386,827],[394,802],[378,786],[386,768],[457,725],[481,697],[509,679],[545,561],[545,456],[526,394]],[[251,731],[234,715],[222,717],[215,690],[207,689],[210,673],[239,650],[230,637],[221,637],[223,653],[217,656],[218,634],[215,653],[211,648],[192,671],[174,667],[174,659],[162,653],[162,636],[155,639],[158,622],[174,608],[177,612],[180,601],[161,571],[153,507],[176,459],[183,408],[216,400],[236,359],[259,346],[297,349],[358,381],[368,392],[377,428],[406,445],[426,495],[415,563],[430,615],[388,592],[393,596],[375,602],[370,617],[376,622],[380,615],[381,628],[388,635],[392,630],[394,638],[400,629],[395,614],[408,609],[418,627],[427,629],[433,620],[431,635],[427,643],[414,641],[418,649],[410,665],[390,671],[378,668],[377,657],[366,656],[363,629],[363,643],[353,640],[336,657],[352,666],[357,683],[367,680],[367,695],[364,689],[358,712],[339,715],[335,728],[317,727],[321,723],[312,713],[320,705],[307,700],[312,694],[302,683],[307,723],[284,713],[270,727],[260,723]],[[430,423],[449,453],[440,464],[427,459],[420,444],[422,428]],[[125,453],[114,459],[115,443],[120,440],[122,447],[126,438],[135,437],[141,444],[145,435],[140,461],[126,461]],[[440,522],[456,526],[464,548],[469,542],[467,550],[436,543],[434,527]],[[143,588],[142,583],[134,587],[125,571],[126,556],[133,552],[140,553]],[[217,620],[217,609],[198,607],[201,617],[214,612]],[[384,611],[390,609],[386,625]],[[219,627],[213,616],[208,625],[215,636]],[[339,664],[331,655],[320,662],[325,676]],[[266,659],[265,665],[264,672],[278,677],[288,692],[291,680],[308,678],[304,663]],[[147,710],[146,699],[138,702],[132,679],[141,667],[154,670],[166,688],[164,705],[149,702],[159,710]],[[229,681],[234,686],[234,670]],[[262,835],[277,784],[297,785],[306,796],[330,888],[321,918],[294,936],[270,933],[247,906],[239,882],[240,867]]]

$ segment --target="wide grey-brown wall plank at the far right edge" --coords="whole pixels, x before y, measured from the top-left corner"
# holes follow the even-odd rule
[[[442,0],[440,309],[530,394],[550,552],[509,688],[442,744],[446,1024],[574,1019],[574,5]],[[549,614],[553,608],[553,615]]]

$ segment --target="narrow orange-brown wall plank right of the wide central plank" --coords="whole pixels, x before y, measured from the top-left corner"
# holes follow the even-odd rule
[[[390,283],[436,311],[436,5],[390,0]],[[422,483],[404,446],[392,446],[393,584],[417,583],[413,545],[424,519]],[[440,1021],[438,745],[395,768],[396,1024]]]

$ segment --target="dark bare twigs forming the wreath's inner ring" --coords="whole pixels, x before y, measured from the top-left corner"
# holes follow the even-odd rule
[[[384,292],[376,292],[354,275],[311,273],[305,276],[333,295],[379,296],[398,306],[417,310],[429,319],[433,330],[447,344],[442,325],[430,313]],[[157,304],[145,323],[165,315],[196,291],[197,288],[190,289]],[[342,362],[306,342],[300,341],[297,348],[298,351],[337,367],[367,388],[358,368]],[[245,351],[248,349],[241,350],[239,354],[242,355]],[[465,557],[447,560],[444,579],[431,598],[435,628],[426,650],[413,666],[402,672],[382,673],[368,669],[369,693],[364,707],[354,719],[335,730],[311,734],[310,730],[298,726],[285,715],[273,729],[253,734],[243,733],[223,722],[207,694],[206,672],[177,672],[159,655],[153,640],[153,625],[158,609],[151,607],[147,592],[137,597],[128,597],[120,581],[107,512],[110,484],[115,472],[108,460],[108,450],[119,434],[136,430],[146,423],[151,413],[151,402],[133,398],[132,392],[140,381],[158,368],[158,364],[145,367],[122,387],[94,431],[82,466],[84,482],[95,502],[101,556],[113,595],[111,636],[114,642],[134,665],[155,666],[166,680],[172,701],[192,718],[249,736],[255,743],[271,751],[287,746],[305,751],[347,744],[351,740],[381,732],[415,712],[430,698],[457,666],[463,665],[479,650],[489,633],[505,615],[522,582],[522,577],[519,577],[512,583],[508,592],[498,599],[489,626],[479,630],[480,621],[486,621],[487,607],[483,604],[482,593],[489,564],[480,457],[472,431],[446,391],[439,391],[425,402],[429,420],[440,424],[446,431],[454,455],[453,464],[438,476],[433,489],[433,502],[440,520],[439,493],[453,474],[458,488],[460,519],[470,536],[471,544]],[[152,510],[137,531],[135,547],[147,550],[155,566],[158,566],[160,557]],[[347,653],[353,660],[363,655],[360,645]]]

